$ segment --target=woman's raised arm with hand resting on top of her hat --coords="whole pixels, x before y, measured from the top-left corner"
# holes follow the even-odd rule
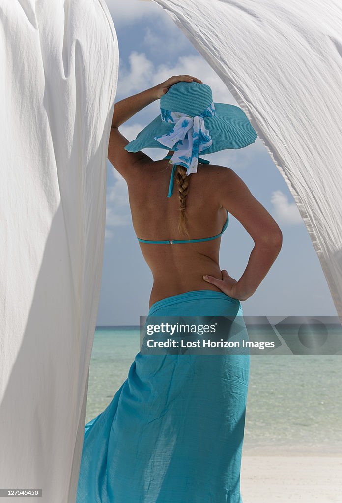
[[[202,80],[192,77],[191,75],[174,75],[153,88],[129,96],[115,104],[108,144],[108,159],[126,180],[131,176],[135,176],[136,163],[144,163],[146,161],[151,161],[151,159],[141,151],[128,152],[125,150],[125,146],[128,145],[129,141],[120,133],[118,129],[119,126],[139,112],[139,110],[142,110],[153,101],[158,100],[162,95],[167,93],[171,86],[181,80],[187,82],[195,80],[196,82],[202,83]]]

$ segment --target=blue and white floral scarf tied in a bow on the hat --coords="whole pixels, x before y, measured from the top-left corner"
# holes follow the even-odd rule
[[[200,115],[191,117],[182,112],[160,109],[163,122],[174,123],[173,129],[154,139],[175,150],[170,164],[181,164],[187,168],[187,175],[197,172],[198,154],[213,144],[209,130],[205,129],[204,117],[216,115],[214,103],[211,103]]]

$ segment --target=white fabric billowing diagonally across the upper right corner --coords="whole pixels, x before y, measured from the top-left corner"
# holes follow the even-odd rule
[[[298,206],[341,317],[342,3],[152,2],[221,77],[264,142]]]

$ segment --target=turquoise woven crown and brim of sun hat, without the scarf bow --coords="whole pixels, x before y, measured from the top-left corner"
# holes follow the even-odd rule
[[[212,91],[206,84],[196,81],[177,82],[160,98],[160,108],[182,112],[191,117],[200,115],[213,102]],[[204,117],[205,128],[209,130],[212,145],[201,154],[209,154],[228,148],[243,148],[254,143],[258,134],[251,126],[243,110],[227,103],[214,103],[216,115]],[[175,124],[164,122],[161,115],[153,119],[137,137],[125,146],[128,152],[138,152],[143,148],[173,150],[154,139],[167,134]],[[175,145],[177,149],[177,144]]]

